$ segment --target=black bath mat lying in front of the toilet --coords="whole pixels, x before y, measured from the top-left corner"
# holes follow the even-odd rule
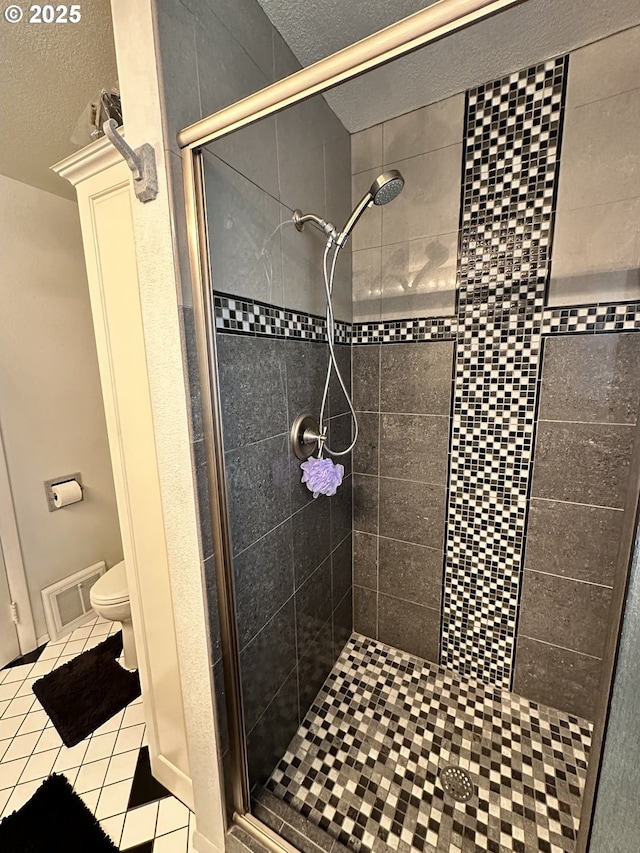
[[[78,655],[33,685],[65,746],[75,746],[140,695],[137,672],[118,661],[122,632]]]

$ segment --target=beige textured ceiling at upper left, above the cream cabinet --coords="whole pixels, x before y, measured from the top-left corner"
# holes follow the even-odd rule
[[[117,81],[109,0],[81,9],[77,24],[0,21],[0,173],[66,198],[75,190],[49,166],[80,147],[80,113]]]

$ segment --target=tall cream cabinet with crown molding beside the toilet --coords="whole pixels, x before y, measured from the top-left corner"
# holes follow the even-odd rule
[[[55,170],[78,193],[151,767],[193,808],[133,234],[139,202],[106,139]]]

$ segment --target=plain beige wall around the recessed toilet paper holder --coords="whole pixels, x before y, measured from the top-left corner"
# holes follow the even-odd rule
[[[2,177],[2,435],[36,635],[40,590],[122,559],[78,207]],[[50,513],[43,482],[80,471],[85,500]]]

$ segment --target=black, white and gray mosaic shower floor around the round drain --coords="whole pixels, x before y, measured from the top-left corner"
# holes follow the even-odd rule
[[[266,783],[355,851],[568,853],[592,725],[353,634]],[[466,768],[460,803],[439,770]]]

